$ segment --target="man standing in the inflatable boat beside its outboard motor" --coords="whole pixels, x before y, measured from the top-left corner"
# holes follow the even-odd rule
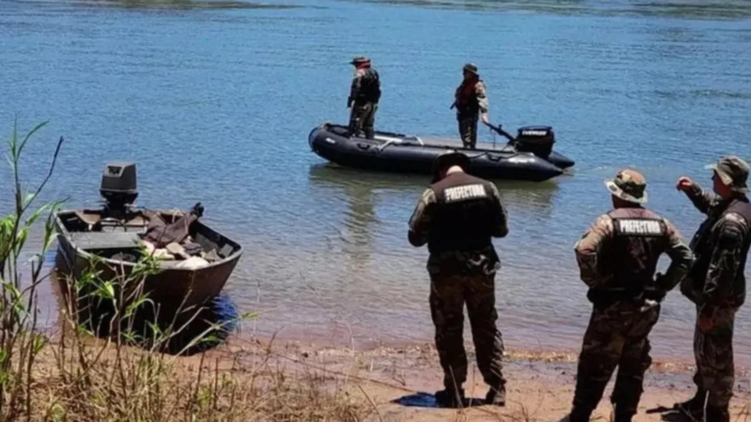
[[[454,104],[451,107],[457,108],[459,135],[464,148],[475,149],[478,113],[482,113],[483,123],[490,123],[487,117],[487,93],[485,83],[480,79],[477,65],[467,63],[462,68],[462,72],[464,79],[454,93]]]

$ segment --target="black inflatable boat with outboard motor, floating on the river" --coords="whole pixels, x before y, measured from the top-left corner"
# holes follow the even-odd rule
[[[342,166],[388,172],[430,173],[433,160],[447,150],[470,158],[469,172],[482,178],[544,181],[574,165],[552,151],[550,127],[523,127],[519,136],[499,148],[463,148],[457,139],[421,139],[402,133],[375,132],[375,139],[351,136],[347,127],[324,123],[308,142],[315,154]],[[542,157],[541,157],[542,156]]]

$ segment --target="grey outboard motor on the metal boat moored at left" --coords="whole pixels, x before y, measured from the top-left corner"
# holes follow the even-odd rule
[[[105,208],[115,216],[127,213],[127,208],[135,202],[136,164],[135,163],[107,163],[101,175],[99,193],[104,198]]]

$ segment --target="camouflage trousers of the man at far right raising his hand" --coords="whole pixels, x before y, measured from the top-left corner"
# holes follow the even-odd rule
[[[694,382],[699,391],[709,393],[707,404],[726,407],[733,397],[735,369],[733,364],[733,322],[737,308],[697,307],[694,330]],[[712,320],[711,328],[702,329],[699,315]]]

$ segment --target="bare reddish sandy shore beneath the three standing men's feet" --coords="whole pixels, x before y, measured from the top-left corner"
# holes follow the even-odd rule
[[[379,347],[366,351],[328,348],[305,343],[278,343],[269,340],[231,339],[227,348],[211,352],[231,354],[240,363],[252,366],[271,356],[285,371],[312,371],[323,375],[324,384],[345,385],[349,394],[364,397],[371,409],[366,421],[558,421],[570,409],[576,376],[575,353],[510,350],[505,355],[508,403],[505,408],[472,406],[469,409],[436,408],[430,395],[442,388],[438,356],[430,344],[403,348]],[[468,397],[481,399],[487,388],[481,381],[468,348]],[[645,378],[644,395],[635,421],[689,421],[671,408],[692,396],[692,367],[676,361],[655,361]],[[593,420],[609,421],[605,391]],[[737,368],[731,421],[751,420],[749,372]]]

